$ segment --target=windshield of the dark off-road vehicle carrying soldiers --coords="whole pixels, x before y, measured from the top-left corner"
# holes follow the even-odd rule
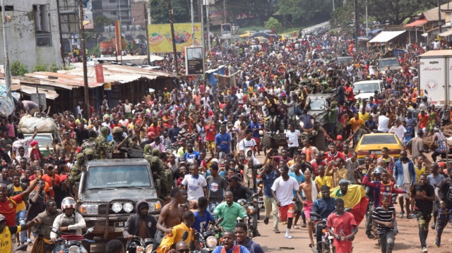
[[[149,169],[146,166],[98,166],[90,167],[86,175],[86,190],[117,187],[151,187]]]

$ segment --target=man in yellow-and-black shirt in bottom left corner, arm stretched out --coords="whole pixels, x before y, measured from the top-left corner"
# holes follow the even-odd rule
[[[11,243],[11,235],[19,233],[20,231],[26,231],[28,228],[35,226],[35,224],[39,224],[40,220],[35,218],[32,221],[28,221],[23,226],[6,226],[6,217],[3,214],[0,214],[0,252],[2,253],[11,253],[13,252],[13,245]]]

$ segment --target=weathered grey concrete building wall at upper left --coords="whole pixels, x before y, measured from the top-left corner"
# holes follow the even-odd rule
[[[6,23],[8,36],[8,56],[10,63],[20,61],[28,65],[31,70],[36,64],[56,63],[61,66],[61,51],[59,45],[59,27],[57,2],[53,0],[4,0],[5,6],[13,6],[14,11],[6,11],[11,16],[11,22]],[[33,5],[48,4],[48,7],[38,6],[38,11],[44,11],[47,21],[40,22],[42,18],[35,18]],[[8,8],[6,8],[8,9]],[[0,18],[1,20],[1,18]],[[44,18],[45,20],[45,18]],[[51,47],[37,47],[36,34],[50,32],[52,35]],[[3,29],[0,26],[0,64],[4,64]]]

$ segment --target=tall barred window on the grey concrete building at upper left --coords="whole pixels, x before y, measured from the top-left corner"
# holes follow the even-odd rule
[[[35,20],[36,47],[52,47],[49,5],[33,5],[33,18]]]

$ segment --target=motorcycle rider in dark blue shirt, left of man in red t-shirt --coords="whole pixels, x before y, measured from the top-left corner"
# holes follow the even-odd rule
[[[328,219],[328,216],[330,214],[333,214],[333,211],[335,211],[335,198],[330,197],[330,187],[328,185],[322,185],[321,187],[321,199],[316,199],[314,201],[314,204],[312,204],[312,212],[315,212],[319,214],[322,218]],[[322,229],[317,228],[316,229],[316,242],[317,242],[317,249],[319,252],[322,252]]]

